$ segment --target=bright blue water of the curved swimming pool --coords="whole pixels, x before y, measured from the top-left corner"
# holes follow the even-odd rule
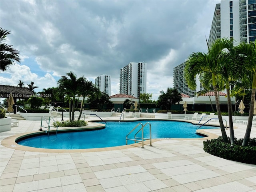
[[[178,121],[135,121],[135,122],[106,122],[106,128],[101,130],[90,130],[83,132],[65,132],[48,134],[26,138],[18,142],[20,145],[49,148],[49,149],[88,149],[121,146],[126,144],[126,135],[139,123],[143,125],[150,122],[152,139],[154,138],[201,138],[196,134],[198,126],[188,122]],[[141,126],[138,126],[138,129]],[[202,126],[200,129],[216,128],[213,126]],[[134,134],[137,131],[134,132]],[[128,138],[134,138],[131,134]],[[141,136],[141,134],[138,134]],[[149,126],[144,128],[144,138],[149,138]],[[128,141],[132,144],[134,141]]]

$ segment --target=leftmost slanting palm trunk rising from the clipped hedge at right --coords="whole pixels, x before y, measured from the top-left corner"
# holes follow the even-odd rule
[[[221,116],[220,103],[219,103],[217,87],[216,87],[216,79],[215,79],[214,75],[213,75],[213,78],[212,78],[212,84],[213,84],[213,90],[214,90],[214,96],[215,96],[215,102],[216,102],[216,110],[217,110],[218,119],[219,119],[219,122],[220,122],[220,130],[221,130],[224,142],[227,143],[228,142],[228,136],[226,134],[225,127],[224,127],[223,120],[222,120],[222,116]]]

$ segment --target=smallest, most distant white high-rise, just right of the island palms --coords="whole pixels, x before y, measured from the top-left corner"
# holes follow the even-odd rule
[[[95,86],[101,91],[111,95],[111,76],[101,74],[95,79]]]

